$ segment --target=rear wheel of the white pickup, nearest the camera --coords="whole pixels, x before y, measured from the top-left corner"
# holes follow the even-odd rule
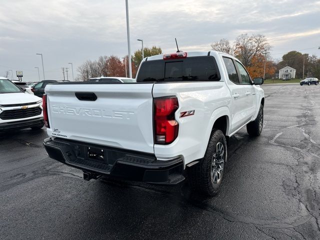
[[[189,171],[192,189],[208,196],[215,195],[222,182],[226,156],[225,136],[221,130],[213,129],[204,157]]]

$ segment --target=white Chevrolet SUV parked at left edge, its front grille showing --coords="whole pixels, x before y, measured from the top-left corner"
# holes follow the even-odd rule
[[[0,130],[43,127],[42,99],[0,77]]]

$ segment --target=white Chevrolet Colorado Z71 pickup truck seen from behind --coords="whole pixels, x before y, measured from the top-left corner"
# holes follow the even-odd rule
[[[192,188],[213,195],[228,138],[245,125],[251,136],[262,130],[262,83],[231,55],[194,51],[144,58],[135,83],[49,84],[44,146],[87,180],[169,185],[187,175]]]

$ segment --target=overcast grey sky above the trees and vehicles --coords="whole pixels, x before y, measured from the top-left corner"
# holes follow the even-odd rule
[[[23,71],[24,81],[63,79],[100,55],[127,54],[124,0],[1,0],[0,75]],[[299,50],[320,56],[319,0],[129,0],[131,53],[145,46],[175,51],[209,50],[220,38],[262,33],[271,56]],[[16,78],[16,77],[14,77]],[[71,71],[69,72],[69,79]]]

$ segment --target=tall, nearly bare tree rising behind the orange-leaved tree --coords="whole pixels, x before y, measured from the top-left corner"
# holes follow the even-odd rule
[[[262,54],[264,50],[269,50],[271,46],[266,40],[266,37],[261,34],[252,34],[249,36],[247,33],[239,35],[235,39],[235,55],[241,60],[244,66],[251,64],[253,56]]]

